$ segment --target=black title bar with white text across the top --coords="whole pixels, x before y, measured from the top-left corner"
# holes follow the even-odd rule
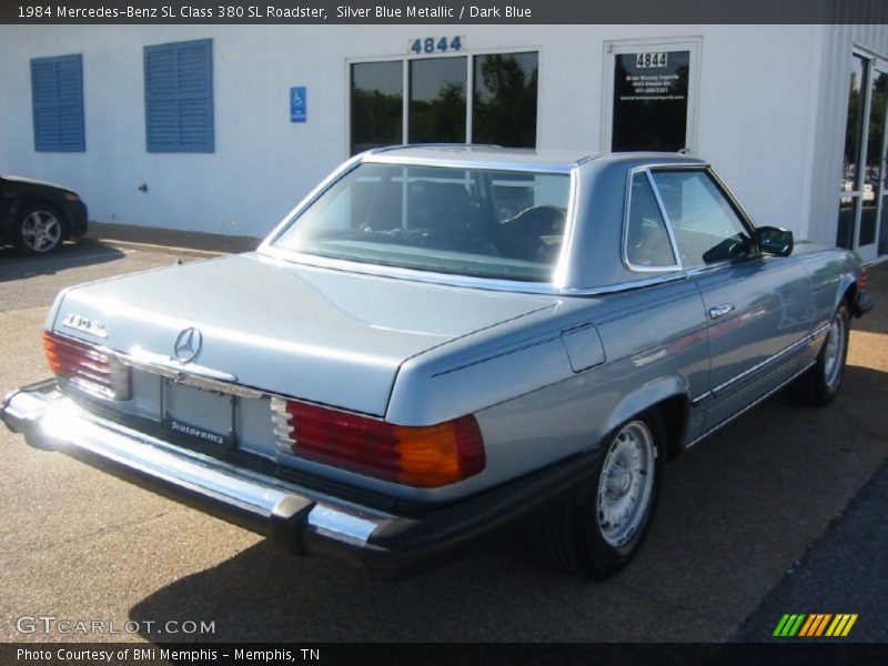
[[[888,0],[2,0],[2,23],[888,23]]]

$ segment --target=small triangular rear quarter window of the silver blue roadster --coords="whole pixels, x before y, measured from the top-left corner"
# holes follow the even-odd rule
[[[645,173],[636,173],[632,179],[626,260],[642,269],[672,269],[677,264],[666,222]]]

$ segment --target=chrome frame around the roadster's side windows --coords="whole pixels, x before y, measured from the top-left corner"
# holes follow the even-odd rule
[[[675,230],[673,229],[673,221],[669,218],[669,213],[666,210],[665,204],[663,203],[663,198],[660,196],[659,189],[657,188],[656,182],[654,181],[654,171],[700,171],[705,173],[713,182],[715,188],[722,193],[725,200],[728,202],[728,205],[731,208],[734,213],[737,215],[737,219],[740,221],[740,224],[746,230],[746,233],[749,235],[750,239],[754,238],[754,232],[756,229],[753,219],[749,216],[749,213],[746,209],[743,208],[740,202],[735,196],[734,192],[730,188],[727,186],[725,181],[716,173],[710,164],[706,163],[686,163],[686,162],[675,162],[675,163],[656,163],[656,164],[639,164],[629,169],[626,178],[626,192],[625,192],[625,202],[624,202],[624,210],[623,210],[623,235],[622,235],[622,260],[623,265],[625,265],[629,271],[633,273],[659,273],[659,274],[674,274],[674,273],[682,273],[687,275],[694,275],[702,272],[708,272],[713,270],[717,270],[724,266],[734,265],[737,262],[749,261],[753,259],[758,259],[761,256],[758,249],[753,245],[753,251],[746,258],[738,258],[738,259],[725,259],[722,261],[713,262],[710,264],[705,264],[702,266],[685,266],[684,262],[682,261],[682,253],[679,252],[678,242],[675,238]],[[676,263],[670,266],[638,266],[633,264],[628,259],[628,230],[629,230],[629,205],[630,205],[630,196],[632,196],[632,181],[637,173],[645,173],[650,186],[654,190],[654,198],[657,201],[657,206],[659,208],[660,215],[663,215],[663,221],[666,224],[666,232],[669,236],[669,243],[672,245],[673,256],[676,260]]]

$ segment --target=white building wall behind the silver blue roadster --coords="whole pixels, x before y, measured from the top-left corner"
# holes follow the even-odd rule
[[[264,235],[347,157],[349,59],[402,56],[461,34],[470,52],[539,50],[541,148],[602,150],[606,40],[699,37],[697,150],[759,223],[808,233],[811,164],[829,98],[824,28],[810,26],[0,27],[0,172],[79,190],[99,221]],[[52,38],[48,39],[51,34]],[[145,44],[213,39],[215,152],[148,153]],[[36,153],[29,60],[83,54],[87,151]],[[847,58],[841,80],[847,80]],[[841,69],[841,68],[838,68]],[[831,80],[829,85],[836,83]],[[307,122],[287,93],[306,85]],[[831,98],[830,98],[831,99]],[[816,144],[816,149],[811,147]],[[837,155],[840,155],[840,148]],[[838,172],[838,170],[836,170]],[[815,179],[816,180],[816,179]],[[835,180],[835,179],[834,179]],[[138,186],[148,185],[142,193]],[[835,216],[831,221],[835,224]],[[814,230],[811,230],[814,231]]]

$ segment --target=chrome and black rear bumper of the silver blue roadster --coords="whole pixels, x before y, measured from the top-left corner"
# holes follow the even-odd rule
[[[0,404],[0,420],[38,448],[60,451],[142,487],[263,534],[293,554],[345,559],[381,577],[445,564],[521,516],[573,492],[589,456],[417,516],[398,516],[259,474],[100,418],[53,381]]]

